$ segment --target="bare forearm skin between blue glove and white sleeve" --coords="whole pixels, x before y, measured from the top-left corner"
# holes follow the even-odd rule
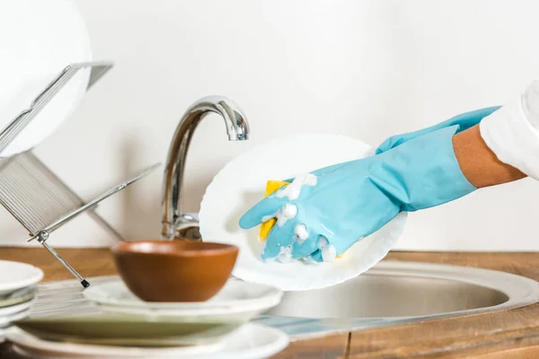
[[[521,180],[526,174],[506,163],[482,139],[479,125],[453,136],[453,148],[466,179],[476,188],[495,186]]]

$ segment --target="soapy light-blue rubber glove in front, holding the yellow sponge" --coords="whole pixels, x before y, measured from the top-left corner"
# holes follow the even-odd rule
[[[240,219],[243,229],[271,217],[263,259],[330,261],[402,211],[438,206],[476,188],[453,150],[458,125],[416,136],[365,159],[298,176]]]

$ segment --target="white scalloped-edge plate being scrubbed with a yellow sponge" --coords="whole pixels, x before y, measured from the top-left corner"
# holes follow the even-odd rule
[[[206,190],[200,205],[200,233],[205,241],[230,243],[240,252],[233,274],[247,282],[302,291],[337,285],[358,276],[385,257],[402,234],[406,214],[358,241],[331,263],[306,264],[261,260],[259,227],[243,231],[238,222],[264,197],[267,180],[286,180],[339,162],[370,156],[367,144],[346,136],[287,136],[260,144],[225,165]]]

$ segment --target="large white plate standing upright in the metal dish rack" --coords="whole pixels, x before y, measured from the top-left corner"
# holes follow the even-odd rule
[[[0,43],[0,129],[28,109],[65,66],[92,60],[84,20],[71,0],[1,1]],[[75,74],[1,155],[40,144],[75,110],[89,77],[88,69]]]

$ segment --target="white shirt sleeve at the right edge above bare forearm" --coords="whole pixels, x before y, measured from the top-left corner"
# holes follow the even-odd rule
[[[483,118],[479,128],[499,161],[539,180],[539,82]]]

